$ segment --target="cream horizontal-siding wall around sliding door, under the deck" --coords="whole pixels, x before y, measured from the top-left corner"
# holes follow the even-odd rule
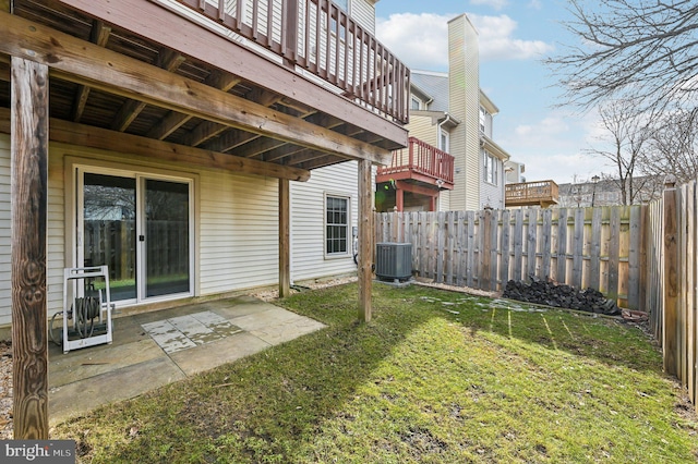
[[[209,296],[278,282],[278,180],[195,169],[142,157],[51,143],[48,170],[48,315],[62,309],[63,268],[74,266],[71,228],[75,192],[67,184],[74,163],[119,169],[167,171],[194,180],[194,295]],[[12,320],[11,307],[10,136],[0,134],[0,327]],[[292,278],[308,279],[356,271],[351,254],[324,257],[324,194],[351,198],[357,223],[357,163],[313,171],[309,183],[291,182]],[[351,233],[351,228],[350,228]]]

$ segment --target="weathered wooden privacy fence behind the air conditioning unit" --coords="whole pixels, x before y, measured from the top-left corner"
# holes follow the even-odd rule
[[[410,242],[412,269],[438,283],[503,290],[535,276],[639,309],[642,220],[641,206],[384,212],[376,241]]]

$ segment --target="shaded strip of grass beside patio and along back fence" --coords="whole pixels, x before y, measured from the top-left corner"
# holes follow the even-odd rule
[[[287,298],[280,305],[328,328],[107,406],[57,431],[77,440],[95,462],[294,461],[393,349],[432,318],[466,332],[661,371],[641,338],[591,323],[586,316],[513,310],[458,293],[376,285],[373,320],[359,323],[356,295],[352,284]]]

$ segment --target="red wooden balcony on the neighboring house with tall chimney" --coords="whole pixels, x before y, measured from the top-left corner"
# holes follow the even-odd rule
[[[380,167],[376,183],[405,181],[436,190],[453,190],[454,157],[416,137],[407,148],[393,151],[389,166]]]

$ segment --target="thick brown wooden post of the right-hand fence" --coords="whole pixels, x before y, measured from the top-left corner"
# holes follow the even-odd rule
[[[662,345],[664,346],[664,371],[677,375],[678,356],[678,221],[677,198],[673,180],[664,186],[664,323]]]

